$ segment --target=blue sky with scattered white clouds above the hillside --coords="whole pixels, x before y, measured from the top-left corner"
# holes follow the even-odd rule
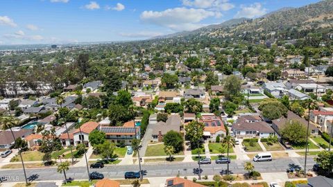
[[[146,39],[318,0],[1,0],[0,44]]]

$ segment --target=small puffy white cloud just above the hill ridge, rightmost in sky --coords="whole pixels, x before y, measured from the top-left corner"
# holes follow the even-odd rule
[[[235,18],[247,17],[255,18],[267,13],[267,9],[262,7],[261,3],[253,3],[250,6],[241,5],[241,10],[234,16]]]

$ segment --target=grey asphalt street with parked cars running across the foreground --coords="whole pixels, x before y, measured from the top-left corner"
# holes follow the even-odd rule
[[[307,160],[307,170],[311,169],[315,161],[313,158]],[[285,172],[289,166],[301,167],[304,165],[304,158],[286,158],[274,159],[267,162],[253,162],[255,170],[259,172]],[[234,174],[243,174],[244,161],[232,161],[229,165],[230,172]],[[176,177],[178,170],[180,176],[193,176],[194,168],[198,168],[198,164],[192,163],[145,163],[142,165],[142,170],[146,171],[144,177]],[[201,165],[203,169],[202,176],[216,175],[221,171],[227,169],[227,164],[206,164]],[[105,177],[112,179],[122,179],[126,171],[138,171],[139,166],[105,166],[101,169],[89,169],[89,172],[98,171],[103,173]],[[35,168],[26,170],[27,177],[30,181],[44,181],[44,180],[62,180],[64,175],[57,172],[56,168]],[[67,177],[73,179],[88,179],[87,168],[74,167],[70,168],[67,172]],[[22,169],[15,170],[0,170],[1,179],[6,181],[24,181],[24,174]],[[4,181],[4,182],[6,182]]]

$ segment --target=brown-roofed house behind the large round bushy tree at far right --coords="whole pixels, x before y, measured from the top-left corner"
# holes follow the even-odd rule
[[[302,125],[307,127],[307,121],[305,118],[301,118],[297,114],[291,112],[290,110],[287,112],[287,118],[282,116],[281,118],[275,119],[272,121],[272,128],[277,132],[279,135],[280,130],[286,125],[287,123],[290,123],[291,121],[299,121]],[[313,125],[312,123],[309,124],[309,132],[311,135],[318,135],[318,128]]]

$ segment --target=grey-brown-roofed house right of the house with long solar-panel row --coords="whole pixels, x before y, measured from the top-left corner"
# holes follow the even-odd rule
[[[151,140],[162,142],[163,136],[167,134],[167,132],[171,130],[180,132],[181,125],[182,118],[180,118],[178,114],[168,116],[166,122],[159,121],[155,125],[150,126],[153,129],[153,132],[151,134]]]

